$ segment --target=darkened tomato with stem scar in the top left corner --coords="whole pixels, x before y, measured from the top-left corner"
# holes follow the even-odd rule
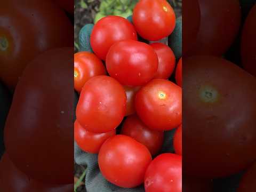
[[[73,46],[69,19],[50,0],[3,1],[0,6],[0,78],[14,88],[39,53]]]

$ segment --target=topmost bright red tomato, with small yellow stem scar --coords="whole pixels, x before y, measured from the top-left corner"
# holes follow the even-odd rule
[[[132,20],[139,35],[149,41],[167,37],[175,28],[175,13],[166,0],[139,1]]]

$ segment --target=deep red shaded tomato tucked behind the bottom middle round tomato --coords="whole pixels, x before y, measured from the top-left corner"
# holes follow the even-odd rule
[[[125,119],[121,134],[130,136],[145,145],[152,156],[156,155],[163,145],[164,132],[148,129],[137,115]]]

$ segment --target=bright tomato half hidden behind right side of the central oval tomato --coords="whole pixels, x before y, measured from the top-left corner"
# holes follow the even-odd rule
[[[158,69],[154,78],[169,78],[172,75],[176,62],[173,51],[163,43],[152,43],[150,45],[158,57]]]

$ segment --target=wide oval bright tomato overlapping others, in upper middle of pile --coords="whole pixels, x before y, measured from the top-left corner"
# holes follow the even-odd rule
[[[121,41],[109,49],[106,67],[111,77],[123,85],[142,86],[156,74],[158,58],[154,49],[138,41]]]

